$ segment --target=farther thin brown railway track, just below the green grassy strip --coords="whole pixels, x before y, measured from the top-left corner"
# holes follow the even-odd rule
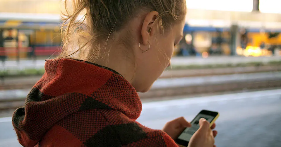
[[[160,79],[199,76],[203,77],[213,75],[250,74],[276,71],[281,71],[281,66],[248,66],[216,69],[172,70],[164,71],[163,74],[160,76]],[[2,80],[0,81],[0,90],[31,88],[40,78],[41,76],[2,78]]]

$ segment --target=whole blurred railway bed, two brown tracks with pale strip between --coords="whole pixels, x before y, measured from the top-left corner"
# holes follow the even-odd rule
[[[258,90],[263,88],[281,88],[281,66],[248,66],[216,69],[189,69],[164,71],[152,89],[140,93],[140,98],[161,99],[180,95],[196,95],[239,90]],[[25,103],[28,89],[41,78],[16,77],[5,78],[0,85],[0,115],[11,114]],[[174,81],[176,80],[176,81]],[[24,91],[20,96],[13,96],[13,91]],[[6,91],[1,95],[1,91]],[[11,94],[9,94],[11,93]]]

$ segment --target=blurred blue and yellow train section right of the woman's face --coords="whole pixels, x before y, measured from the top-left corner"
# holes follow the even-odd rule
[[[280,24],[281,27],[281,24]],[[281,28],[265,29],[238,25],[237,40],[233,40],[232,26],[192,26],[184,27],[186,36],[177,47],[174,55],[215,55],[272,56],[281,55]],[[236,41],[236,42],[235,42]],[[232,45],[236,43],[235,52]],[[186,53],[184,53],[186,52]]]

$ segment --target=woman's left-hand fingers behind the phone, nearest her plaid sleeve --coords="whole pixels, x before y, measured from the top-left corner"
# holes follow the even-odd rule
[[[166,132],[172,139],[177,139],[182,131],[186,127],[191,127],[191,124],[187,122],[184,117],[179,117],[170,122],[167,122],[163,128],[163,131]]]

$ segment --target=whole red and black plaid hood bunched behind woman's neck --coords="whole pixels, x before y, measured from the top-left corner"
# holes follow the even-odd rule
[[[35,146],[65,117],[85,110],[108,109],[136,120],[141,102],[133,86],[108,68],[73,59],[47,60],[45,73],[13,114],[22,145]]]

